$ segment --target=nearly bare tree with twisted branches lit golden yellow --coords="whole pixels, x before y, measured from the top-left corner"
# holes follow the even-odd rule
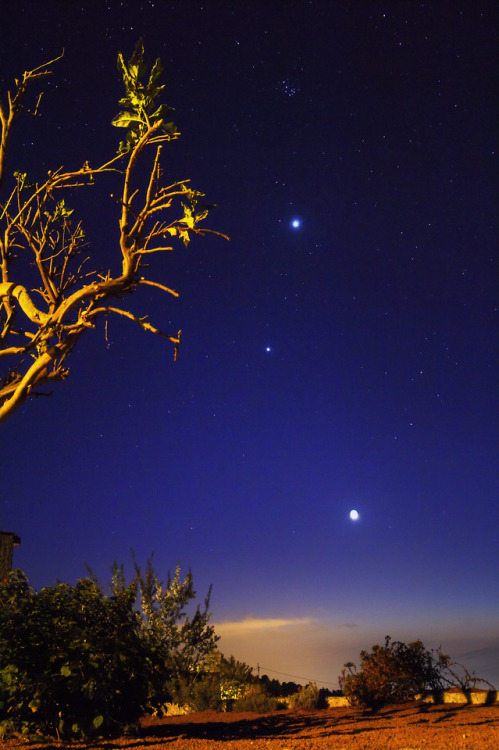
[[[15,184],[0,203],[0,357],[8,363],[0,379],[0,422],[28,397],[39,394],[41,386],[67,377],[68,356],[98,318],[128,318],[144,330],[169,339],[176,357],[180,331],[164,333],[151,325],[147,316],[138,317],[117,307],[116,300],[144,285],[178,296],[165,284],[143,275],[148,256],[172,251],[172,238],[187,245],[193,234],[225,236],[200,227],[209,207],[201,204],[203,194],[193,190],[189,180],[162,186],[162,147],[179,133],[172,122],[166,121],[171,108],[158,105],[164,89],[160,83],[161,61],[156,60],[148,82],[143,83],[147,70],[143,55],[142,40],[128,65],[118,55],[125,96],[112,124],[126,132],[117,155],[97,167],[88,161],[73,171],[60,167],[48,172],[43,182],[31,182],[27,174],[15,172]],[[24,72],[15,81],[15,90],[8,92],[7,106],[0,103],[0,189],[6,183],[6,157],[15,120],[29,111],[26,100],[30,90],[51,75],[59,59]],[[40,99],[41,94],[34,113]],[[151,162],[144,179],[146,152],[151,154]],[[73,195],[90,189],[110,172],[120,179],[120,194],[112,196],[111,203],[119,223],[118,274],[91,267],[93,256],[89,255],[84,227],[73,219],[73,210],[63,197],[67,195],[64,191]],[[181,215],[170,220],[165,212],[175,206]]]

